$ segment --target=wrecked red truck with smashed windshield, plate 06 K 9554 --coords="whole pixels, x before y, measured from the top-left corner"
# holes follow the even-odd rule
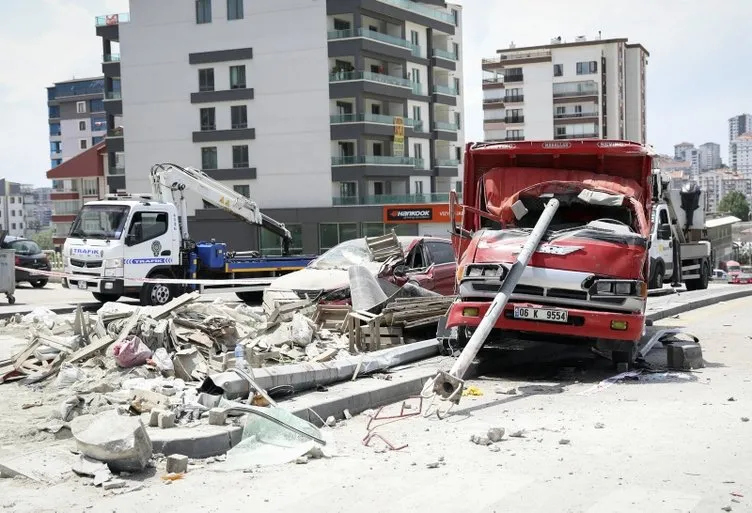
[[[549,198],[560,206],[486,345],[582,344],[631,363],[645,326],[652,153],[618,140],[470,143],[452,193],[459,298],[446,327],[464,346]]]

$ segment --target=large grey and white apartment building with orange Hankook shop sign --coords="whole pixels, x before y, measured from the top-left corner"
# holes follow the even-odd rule
[[[105,109],[125,120],[128,192],[149,189],[157,162],[200,167],[285,222],[306,253],[392,228],[447,234],[464,143],[459,6],[131,0],[130,9],[97,19],[105,54],[108,41],[119,45]],[[273,237],[187,199],[194,237],[278,251]]]

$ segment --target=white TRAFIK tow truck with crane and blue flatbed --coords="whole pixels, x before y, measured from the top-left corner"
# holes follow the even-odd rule
[[[102,302],[128,296],[143,305],[162,305],[191,290],[235,292],[250,302],[273,278],[315,258],[290,256],[291,235],[284,224],[198,169],[157,164],[151,182],[152,194],[108,196],[84,205],[63,247],[63,287],[91,291]],[[194,242],[185,191],[278,235],[282,256],[232,252],[213,239]]]

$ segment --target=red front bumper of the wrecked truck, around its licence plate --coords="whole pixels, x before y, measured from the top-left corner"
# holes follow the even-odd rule
[[[447,328],[466,327],[475,329],[491,306],[488,301],[456,301],[449,309]],[[532,321],[514,318],[514,307],[553,308],[527,302],[509,302],[499,316],[494,328],[521,333],[542,333],[565,337],[607,339],[639,342],[645,328],[643,314],[613,313],[562,307],[568,312],[566,323]]]

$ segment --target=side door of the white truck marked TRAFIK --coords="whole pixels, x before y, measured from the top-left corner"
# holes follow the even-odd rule
[[[170,228],[168,212],[142,210],[133,214],[125,236],[125,276],[145,278],[156,267],[177,264],[179,255]]]

